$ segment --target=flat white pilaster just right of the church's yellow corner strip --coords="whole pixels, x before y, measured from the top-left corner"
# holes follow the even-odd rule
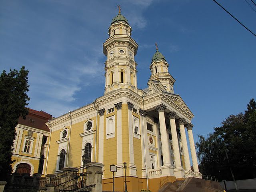
[[[134,104],[127,102],[128,105],[128,126],[129,126],[129,156],[130,156],[130,162],[128,165],[129,168],[129,176],[137,176],[136,174],[136,166],[134,164],[134,150],[133,150],[133,122],[132,122],[132,109]]]

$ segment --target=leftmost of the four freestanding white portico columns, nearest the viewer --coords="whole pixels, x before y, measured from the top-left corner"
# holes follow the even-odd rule
[[[160,104],[158,106],[155,106],[155,108],[158,110],[159,124],[160,124],[160,131],[161,131],[162,152],[163,152],[163,159],[164,159],[164,165],[162,166],[162,175],[163,176],[173,175],[173,171],[171,168],[169,138],[166,131],[165,118],[164,118],[164,110],[166,109],[166,106],[164,104]]]

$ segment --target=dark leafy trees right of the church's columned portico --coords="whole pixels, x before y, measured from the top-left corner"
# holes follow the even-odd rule
[[[230,115],[208,138],[196,143],[200,171],[218,180],[256,177],[256,102],[250,100],[245,113]],[[227,155],[228,156],[227,156]]]

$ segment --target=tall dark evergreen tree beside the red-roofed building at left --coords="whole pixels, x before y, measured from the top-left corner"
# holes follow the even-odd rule
[[[28,114],[28,70],[4,70],[0,76],[0,180],[8,180],[12,172],[12,147],[19,117]]]

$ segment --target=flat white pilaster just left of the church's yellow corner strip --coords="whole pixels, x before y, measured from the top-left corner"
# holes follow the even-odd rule
[[[116,132],[117,132],[117,172],[116,176],[123,176],[123,143],[122,143],[122,102],[114,104],[116,107]]]

